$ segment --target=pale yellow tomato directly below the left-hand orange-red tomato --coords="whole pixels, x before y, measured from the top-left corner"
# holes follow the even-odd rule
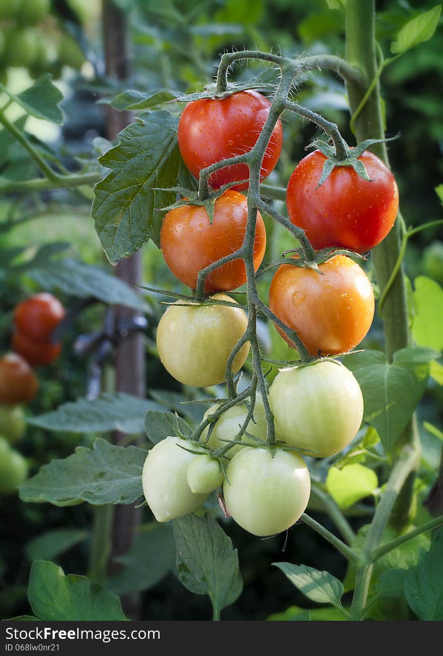
[[[235,302],[225,294],[214,298]],[[208,387],[225,380],[227,359],[246,331],[241,308],[222,305],[170,305],[157,328],[157,348],[164,368],[179,382]],[[246,342],[235,356],[233,373],[240,371],[249,352]]]

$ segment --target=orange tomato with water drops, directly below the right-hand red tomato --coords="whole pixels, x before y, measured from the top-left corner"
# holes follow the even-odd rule
[[[320,273],[291,264],[280,266],[269,288],[269,307],[297,331],[312,356],[344,353],[370,329],[374,292],[368,276],[349,257],[336,255],[318,268]]]

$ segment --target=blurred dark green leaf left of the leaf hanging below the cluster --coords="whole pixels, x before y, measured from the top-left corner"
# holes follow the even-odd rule
[[[174,569],[176,545],[172,527],[152,522],[139,527],[134,543],[124,556],[113,559],[123,569],[106,581],[115,594],[147,590]]]

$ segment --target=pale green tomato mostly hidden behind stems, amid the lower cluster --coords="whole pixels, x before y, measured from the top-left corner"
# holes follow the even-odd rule
[[[219,405],[220,403],[214,403],[214,405],[211,405],[211,407],[204,413],[203,419],[206,419],[208,415],[212,415],[212,413],[218,409]],[[234,405],[233,407],[226,410],[223,415],[218,418],[216,425],[212,429],[209,440],[206,442],[208,439],[209,426],[204,428],[200,440],[202,442],[206,442],[206,444],[211,447],[211,449],[214,449],[214,451],[216,449],[220,449],[220,447],[223,447],[227,444],[222,440],[235,440],[240,427],[244,423],[244,420],[246,420],[246,415],[248,415],[248,408],[246,407],[246,403],[239,403],[238,405]],[[250,420],[246,430],[248,433],[255,435],[256,438],[260,438],[260,440],[266,439],[267,422],[265,417],[265,407],[263,405],[263,399],[261,398],[260,394],[256,395],[254,420]],[[246,446],[249,441],[248,436],[243,435],[242,441],[244,441]],[[232,447],[229,450],[228,457],[231,458],[235,453],[237,453],[237,451],[240,451],[241,449],[244,449],[244,447],[240,444]]]

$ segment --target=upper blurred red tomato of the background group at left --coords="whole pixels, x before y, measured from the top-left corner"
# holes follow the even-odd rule
[[[52,294],[35,294],[16,306],[14,324],[23,337],[50,342],[52,331],[65,316],[60,300]]]

